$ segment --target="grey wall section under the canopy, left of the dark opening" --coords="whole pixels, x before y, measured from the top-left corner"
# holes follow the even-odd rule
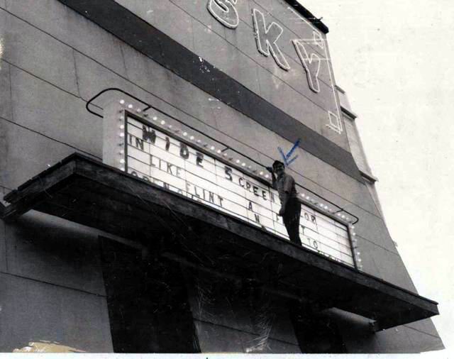
[[[0,351],[50,341],[111,352],[111,332],[92,230],[30,212],[0,225]]]

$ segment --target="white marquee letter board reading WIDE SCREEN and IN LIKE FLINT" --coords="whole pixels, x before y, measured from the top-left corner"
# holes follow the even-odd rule
[[[159,119],[153,118],[154,121],[148,121],[128,113],[121,115],[119,138],[124,150],[119,153],[123,170],[288,239],[282,217],[277,216],[279,195],[267,181],[241,170],[244,163],[236,165],[223,158],[219,155],[221,150],[211,153],[209,147],[197,143],[194,136],[169,131],[168,127],[159,125]],[[104,121],[108,123],[106,116]],[[106,131],[106,126],[104,129]],[[117,131],[115,135],[118,138]],[[106,140],[113,138],[105,136]],[[104,158],[113,158],[110,153],[115,145],[105,148],[111,149],[108,154],[104,150]],[[118,147],[116,151],[118,153]],[[305,248],[354,266],[345,224],[303,203],[299,232]]]

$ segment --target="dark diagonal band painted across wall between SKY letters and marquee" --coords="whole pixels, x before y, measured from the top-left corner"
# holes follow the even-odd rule
[[[177,43],[114,0],[59,0],[179,77],[252,118],[346,175],[364,182],[347,150],[262,99],[209,62],[200,71],[198,55]]]

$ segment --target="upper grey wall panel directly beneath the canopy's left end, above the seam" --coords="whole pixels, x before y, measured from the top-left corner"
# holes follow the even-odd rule
[[[105,295],[96,233],[31,211],[6,226],[9,273]]]

